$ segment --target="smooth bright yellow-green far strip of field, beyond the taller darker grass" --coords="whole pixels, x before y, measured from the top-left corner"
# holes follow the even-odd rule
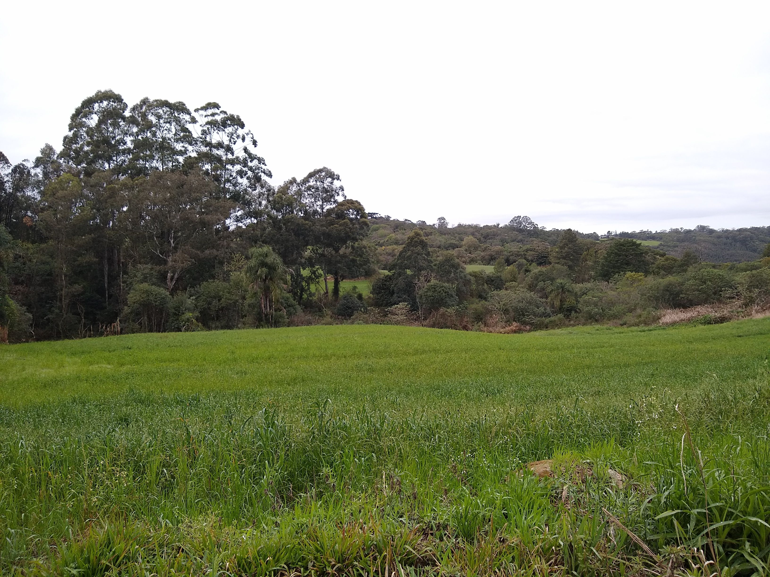
[[[126,335],[0,348],[0,403],[249,389],[263,395],[420,398],[494,389],[525,400],[611,400],[752,379],[770,319],[675,329],[584,327],[490,335],[383,325]]]

